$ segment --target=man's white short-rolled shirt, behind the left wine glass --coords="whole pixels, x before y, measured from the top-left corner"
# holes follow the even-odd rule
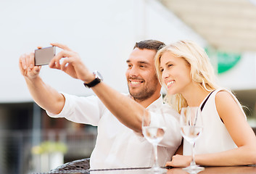
[[[59,115],[75,123],[98,126],[96,145],[91,154],[91,169],[116,167],[149,167],[154,163],[152,144],[139,133],[119,122],[96,96],[65,96],[65,106]],[[159,165],[164,166],[181,144],[178,113],[168,104],[162,104],[162,96],[149,105],[148,109],[161,108],[168,124],[163,140],[158,146]]]

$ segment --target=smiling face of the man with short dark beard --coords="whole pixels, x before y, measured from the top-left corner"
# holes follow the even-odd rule
[[[153,94],[160,93],[161,86],[154,70],[155,54],[156,51],[151,49],[136,48],[126,61],[128,89],[136,101],[144,101]]]

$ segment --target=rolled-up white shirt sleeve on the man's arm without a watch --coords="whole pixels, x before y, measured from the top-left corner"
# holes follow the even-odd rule
[[[62,93],[65,97],[65,105],[62,111],[54,115],[46,111],[50,117],[65,117],[67,120],[75,123],[84,123],[89,125],[98,125],[102,117],[104,104],[96,96],[73,96]]]

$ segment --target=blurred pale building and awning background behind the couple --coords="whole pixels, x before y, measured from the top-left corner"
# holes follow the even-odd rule
[[[33,102],[20,75],[20,54],[65,43],[104,81],[128,92],[125,60],[134,43],[190,39],[205,48],[220,80],[256,127],[256,2],[253,0],[1,0],[0,173],[47,172],[90,157],[96,128],[50,118]],[[93,95],[64,72],[41,70],[68,94]]]

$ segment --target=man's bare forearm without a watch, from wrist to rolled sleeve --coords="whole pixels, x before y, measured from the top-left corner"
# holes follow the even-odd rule
[[[62,111],[65,104],[65,97],[62,94],[46,85],[39,76],[33,79],[25,78],[25,81],[34,101],[41,108],[53,114],[59,114]]]

